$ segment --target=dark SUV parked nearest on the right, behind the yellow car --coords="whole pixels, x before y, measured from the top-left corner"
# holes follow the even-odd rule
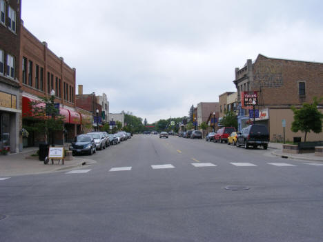
[[[262,146],[264,150],[268,148],[269,132],[268,128],[262,124],[252,124],[247,128],[242,129],[241,134],[237,136],[236,145],[244,145],[245,149],[248,149],[249,145],[253,148]]]

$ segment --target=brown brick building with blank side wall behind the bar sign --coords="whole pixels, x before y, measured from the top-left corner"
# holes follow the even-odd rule
[[[253,106],[244,106],[245,94],[256,93],[255,109],[259,115],[256,123],[267,125],[272,141],[282,139],[282,119],[286,120],[286,140],[302,137],[301,132],[291,132],[293,112],[291,105],[301,107],[302,103],[311,103],[313,97],[323,96],[323,63],[294,61],[265,57],[259,54],[253,62],[248,59],[244,68],[235,68],[235,80],[238,102],[238,129],[250,122],[249,110]],[[322,112],[322,103],[320,105]],[[309,134],[309,141],[322,140],[323,134]]]

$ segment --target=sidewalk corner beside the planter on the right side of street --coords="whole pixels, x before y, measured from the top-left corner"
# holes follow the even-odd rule
[[[323,162],[323,157],[317,157],[313,153],[305,153],[305,154],[290,154],[282,152],[282,143],[269,143],[268,148],[273,149],[271,154],[276,157],[282,157],[287,159],[295,159],[295,160],[304,160],[304,161],[317,161]]]

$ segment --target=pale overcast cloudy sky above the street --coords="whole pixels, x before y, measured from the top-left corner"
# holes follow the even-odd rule
[[[235,91],[234,70],[267,57],[323,62],[323,2],[22,0],[24,26],[110,112],[149,123]]]

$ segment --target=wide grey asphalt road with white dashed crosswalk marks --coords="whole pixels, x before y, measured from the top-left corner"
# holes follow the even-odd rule
[[[0,178],[0,241],[323,241],[323,165],[268,152],[137,135],[84,173]]]

